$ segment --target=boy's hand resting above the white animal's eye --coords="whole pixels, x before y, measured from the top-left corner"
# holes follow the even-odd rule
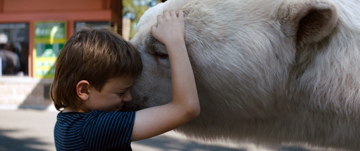
[[[185,25],[183,10],[179,10],[178,16],[176,16],[175,10],[165,10],[163,16],[157,16],[157,26],[151,26],[151,33],[154,38],[165,44],[165,46],[184,40]]]

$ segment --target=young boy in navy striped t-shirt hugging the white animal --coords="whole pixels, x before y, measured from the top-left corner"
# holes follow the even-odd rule
[[[81,29],[55,63],[50,95],[60,110],[54,128],[58,151],[131,150],[130,142],[170,131],[200,113],[186,51],[184,13],[159,15],[151,27],[165,44],[171,65],[171,103],[119,112],[131,101],[130,87],[142,70],[138,51],[111,29]]]

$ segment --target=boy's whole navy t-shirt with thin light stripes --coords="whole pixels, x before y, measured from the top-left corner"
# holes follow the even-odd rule
[[[60,112],[54,128],[57,151],[131,151],[135,112]]]

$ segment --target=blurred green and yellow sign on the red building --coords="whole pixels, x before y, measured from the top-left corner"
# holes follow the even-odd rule
[[[35,22],[33,51],[35,77],[54,77],[54,64],[65,42],[66,22]]]

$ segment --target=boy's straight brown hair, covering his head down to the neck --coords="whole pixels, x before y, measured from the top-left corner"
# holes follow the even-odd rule
[[[60,51],[50,97],[57,110],[65,107],[76,110],[81,100],[76,94],[79,81],[87,80],[101,91],[107,80],[120,76],[136,77],[142,68],[138,50],[113,29],[82,27]]]

